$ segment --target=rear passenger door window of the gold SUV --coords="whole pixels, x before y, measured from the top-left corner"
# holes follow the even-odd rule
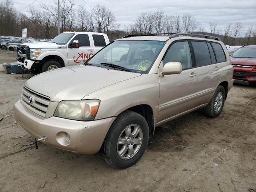
[[[196,58],[196,66],[201,67],[212,64],[207,43],[202,41],[192,41],[191,43]]]

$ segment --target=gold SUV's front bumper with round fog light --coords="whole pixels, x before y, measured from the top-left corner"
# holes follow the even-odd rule
[[[58,117],[44,118],[30,111],[20,102],[14,104],[14,118],[24,130],[35,138],[47,137],[42,141],[50,146],[76,153],[97,153],[115,118],[94,121],[76,121]],[[70,142],[65,138],[70,135]]]

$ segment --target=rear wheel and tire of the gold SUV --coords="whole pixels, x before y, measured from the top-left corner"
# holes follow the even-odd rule
[[[204,108],[204,114],[213,118],[219,116],[224,107],[225,99],[226,93],[224,87],[218,86],[209,104]]]

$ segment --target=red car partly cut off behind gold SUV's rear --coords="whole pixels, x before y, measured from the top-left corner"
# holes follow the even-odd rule
[[[256,84],[256,45],[245,45],[231,56],[234,67],[234,82],[252,85]]]

